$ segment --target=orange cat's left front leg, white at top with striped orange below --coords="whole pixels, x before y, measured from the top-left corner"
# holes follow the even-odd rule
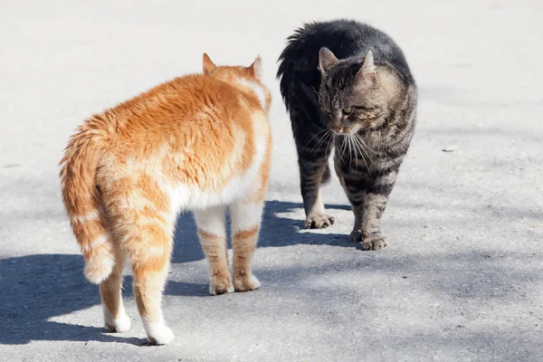
[[[209,262],[209,292],[213,295],[233,292],[226,248],[225,208],[211,207],[194,214],[200,243]]]

